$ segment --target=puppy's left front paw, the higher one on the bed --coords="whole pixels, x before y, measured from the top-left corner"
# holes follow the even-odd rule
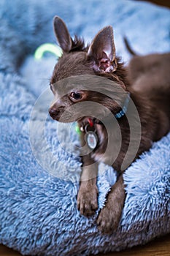
[[[77,208],[80,214],[86,217],[95,214],[98,208],[98,189],[96,185],[93,187],[80,186],[77,196]]]

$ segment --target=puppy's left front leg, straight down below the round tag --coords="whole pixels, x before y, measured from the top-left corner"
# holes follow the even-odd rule
[[[77,207],[80,214],[87,217],[95,214],[98,208],[97,174],[98,164],[90,158],[90,155],[82,157],[82,175],[77,196]]]

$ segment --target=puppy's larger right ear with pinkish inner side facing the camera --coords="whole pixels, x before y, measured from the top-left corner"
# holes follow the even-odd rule
[[[98,32],[88,49],[88,57],[95,61],[96,71],[114,72],[117,69],[112,26]]]

